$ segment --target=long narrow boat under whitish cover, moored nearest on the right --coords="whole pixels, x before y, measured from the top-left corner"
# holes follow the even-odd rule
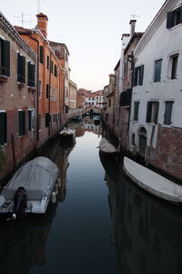
[[[131,180],[152,195],[173,203],[182,202],[182,186],[124,157],[123,169]]]

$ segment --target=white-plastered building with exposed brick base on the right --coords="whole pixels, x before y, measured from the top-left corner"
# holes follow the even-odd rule
[[[134,51],[129,150],[181,179],[182,1],[167,0]]]

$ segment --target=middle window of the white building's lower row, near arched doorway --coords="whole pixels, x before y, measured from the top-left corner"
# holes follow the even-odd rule
[[[159,101],[147,101],[147,122],[157,123]]]

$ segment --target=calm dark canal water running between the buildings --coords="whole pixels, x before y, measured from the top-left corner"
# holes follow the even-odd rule
[[[45,216],[1,221],[1,274],[181,274],[182,211],[126,178],[98,152],[92,121],[70,124],[76,142],[49,142],[39,155],[59,167],[61,187]]]

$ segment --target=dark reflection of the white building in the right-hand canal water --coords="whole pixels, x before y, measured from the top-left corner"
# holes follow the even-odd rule
[[[118,268],[126,274],[182,273],[181,208],[148,195],[122,167],[117,180],[117,169],[106,161]]]

